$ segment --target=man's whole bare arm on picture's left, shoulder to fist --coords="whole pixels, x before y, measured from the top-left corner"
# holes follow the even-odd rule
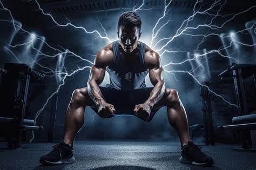
[[[100,50],[96,55],[95,64],[93,64],[91,67],[90,77],[87,82],[88,94],[98,107],[98,112],[102,115],[102,117],[107,117],[107,115],[113,114],[115,111],[114,106],[107,104],[103,99],[102,93],[100,92],[98,86],[104,79],[106,66],[111,65],[112,60],[113,53],[111,50],[107,48]]]

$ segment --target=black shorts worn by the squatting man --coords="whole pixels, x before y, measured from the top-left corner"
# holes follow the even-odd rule
[[[136,90],[117,90],[112,87],[101,87],[99,86],[100,91],[102,92],[104,100],[112,104],[116,109],[116,112],[106,118],[111,118],[116,115],[134,115],[136,114],[133,110],[134,107],[138,104],[143,104],[150,96],[150,92],[153,87],[144,87],[142,89]],[[96,113],[98,109],[91,107]],[[151,114],[147,122],[150,122],[154,114],[159,110],[151,110]],[[144,119],[143,119],[144,120]]]

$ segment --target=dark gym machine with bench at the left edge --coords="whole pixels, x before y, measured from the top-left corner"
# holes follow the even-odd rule
[[[26,64],[6,63],[0,86],[0,130],[8,140],[9,148],[21,147],[22,131],[39,130],[32,119],[24,119],[29,84],[42,83],[44,74]],[[2,134],[2,133],[1,133]]]

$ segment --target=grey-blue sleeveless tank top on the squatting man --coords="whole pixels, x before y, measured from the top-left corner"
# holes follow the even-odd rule
[[[112,43],[112,49],[113,63],[106,69],[110,76],[110,84],[106,86],[117,90],[134,90],[146,87],[145,77],[148,73],[144,62],[146,45],[140,42],[139,56],[130,66],[125,64],[120,55],[119,40]]]

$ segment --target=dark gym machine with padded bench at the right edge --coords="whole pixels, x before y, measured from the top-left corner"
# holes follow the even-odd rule
[[[256,151],[256,149],[251,149],[252,141],[251,141],[251,134],[250,130],[256,129],[256,114],[250,114],[248,111],[248,102],[246,101],[246,89],[244,85],[244,79],[251,77],[253,78],[253,86],[254,92],[251,95],[254,96],[252,100],[255,99],[255,89],[256,89],[256,65],[251,64],[233,64],[228,67],[226,70],[219,74],[221,80],[225,78],[233,78],[233,83],[235,87],[235,94],[237,98],[237,105],[238,105],[238,117],[234,117],[232,119],[233,125],[225,125],[225,126],[218,126],[219,130],[240,130],[241,131],[241,138],[242,138],[242,148],[236,148],[240,150],[247,150],[247,151]],[[254,94],[253,94],[254,93]],[[249,96],[249,95],[247,95]],[[255,100],[252,101],[252,105],[255,107]],[[253,108],[255,109],[255,108]],[[252,108],[251,108],[252,110]]]

